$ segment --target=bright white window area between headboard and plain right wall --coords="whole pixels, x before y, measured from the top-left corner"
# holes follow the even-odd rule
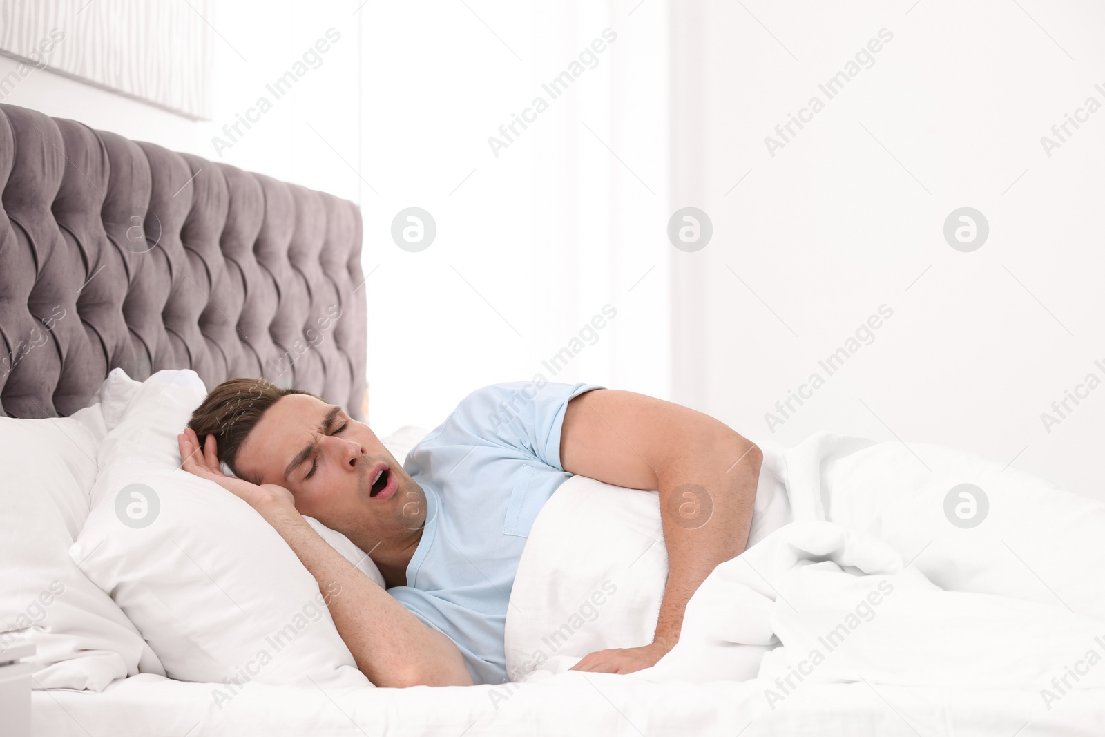
[[[536,375],[666,392],[666,17],[663,2],[631,9],[438,0],[360,11],[365,171],[378,191],[362,208],[366,263],[379,264],[367,284],[377,427],[433,427],[473,389]],[[617,40],[593,69],[555,99],[543,92],[607,28]],[[537,95],[548,108],[496,157],[488,137]],[[419,253],[389,236],[411,206],[438,223]],[[593,345],[555,375],[545,368],[607,304],[617,317]]]

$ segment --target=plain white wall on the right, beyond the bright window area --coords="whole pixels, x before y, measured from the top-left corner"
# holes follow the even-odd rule
[[[675,150],[694,149],[675,161],[673,208],[715,227],[703,251],[673,253],[673,397],[764,443],[818,430],[941,443],[1105,498],[1105,388],[1050,433],[1040,417],[1088,372],[1105,378],[1105,113],[1050,158],[1040,143],[1087,96],[1105,104],[1105,10],[673,7],[694,83],[673,105]],[[883,28],[874,65],[827,99],[818,84]],[[824,109],[770,156],[765,136],[813,95]],[[990,224],[972,253],[941,232],[962,206]],[[894,314],[874,343],[828,377],[818,360],[883,304]],[[814,371],[825,385],[772,433],[765,414]]]

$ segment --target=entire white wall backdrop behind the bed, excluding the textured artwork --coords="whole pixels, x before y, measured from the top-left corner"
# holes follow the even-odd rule
[[[687,403],[761,443],[822,429],[938,442],[1102,494],[1105,389],[1050,433],[1040,417],[1105,378],[1105,113],[1050,158],[1040,144],[1087,96],[1105,103],[1099,7],[358,6],[217,2],[209,123],[46,72],[6,102],[218,159],[223,124],[341,33],[221,160],[361,203],[381,432],[543,373]],[[594,69],[495,157],[488,136],[604,28],[618,40]],[[824,99],[818,84],[883,28],[871,69]],[[772,157],[765,136],[813,95],[824,109]],[[390,238],[410,206],[438,222],[420,253]],[[686,206],[714,224],[696,253],[665,232]],[[961,206],[990,223],[974,253],[943,236]],[[606,304],[617,318],[551,376],[543,360]],[[883,304],[893,317],[828,376],[819,359]],[[776,402],[814,371],[825,385],[783,417]]]

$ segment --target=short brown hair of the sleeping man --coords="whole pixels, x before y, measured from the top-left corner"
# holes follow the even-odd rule
[[[250,379],[239,377],[227,379],[212,389],[203,402],[192,412],[188,427],[196,431],[200,446],[208,435],[214,435],[219,460],[224,462],[235,476],[260,484],[260,478],[243,475],[234,461],[238,451],[250,434],[250,431],[261,421],[261,417],[281,397],[287,394],[307,394],[309,391],[299,389],[281,389],[267,379]],[[315,399],[320,399],[315,397]]]

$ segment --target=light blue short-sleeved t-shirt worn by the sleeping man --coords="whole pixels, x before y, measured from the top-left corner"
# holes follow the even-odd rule
[[[445,633],[472,680],[506,681],[504,628],[522,549],[560,465],[568,400],[590,383],[498,383],[469,394],[403,468],[425,491],[427,522],[399,603]]]

